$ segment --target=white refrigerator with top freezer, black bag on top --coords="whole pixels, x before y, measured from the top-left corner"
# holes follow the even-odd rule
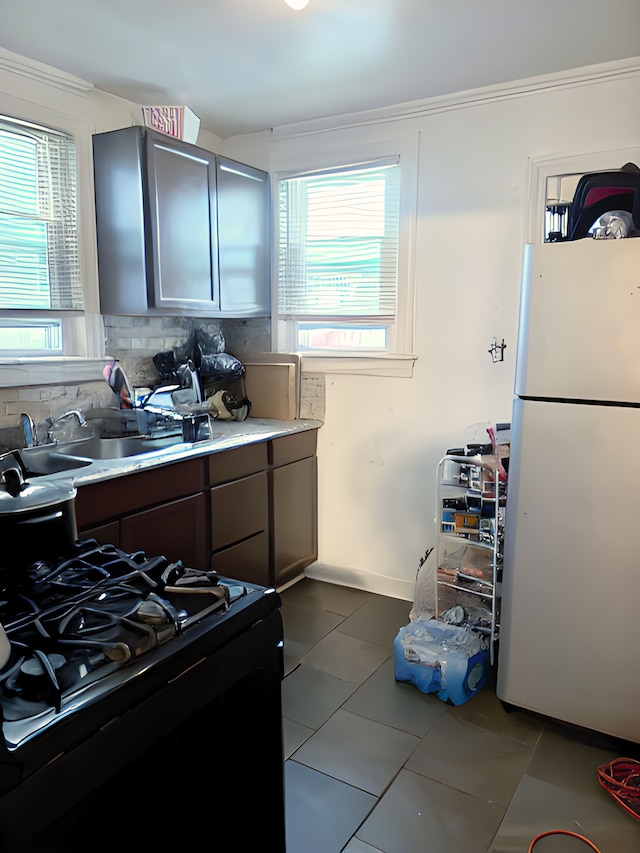
[[[640,238],[527,246],[497,693],[640,743]]]

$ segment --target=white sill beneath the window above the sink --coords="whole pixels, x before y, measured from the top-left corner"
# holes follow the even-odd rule
[[[64,385],[103,379],[108,358],[0,358],[0,387]]]

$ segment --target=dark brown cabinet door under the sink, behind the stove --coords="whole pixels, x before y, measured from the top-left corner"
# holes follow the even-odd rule
[[[171,501],[123,518],[120,543],[123,550],[144,551],[148,557],[163,555],[182,560],[185,566],[208,569],[205,496]]]

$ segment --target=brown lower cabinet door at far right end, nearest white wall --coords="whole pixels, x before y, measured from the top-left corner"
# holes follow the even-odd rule
[[[271,472],[274,585],[297,577],[318,558],[316,457]]]

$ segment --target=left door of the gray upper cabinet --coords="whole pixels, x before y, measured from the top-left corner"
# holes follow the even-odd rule
[[[147,134],[153,305],[217,311],[215,155]]]

